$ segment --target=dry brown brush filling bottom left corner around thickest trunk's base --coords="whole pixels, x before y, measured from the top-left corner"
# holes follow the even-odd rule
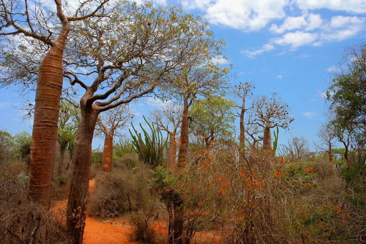
[[[19,162],[0,164],[0,240],[2,243],[66,243],[64,230],[52,213],[27,199],[26,166]]]

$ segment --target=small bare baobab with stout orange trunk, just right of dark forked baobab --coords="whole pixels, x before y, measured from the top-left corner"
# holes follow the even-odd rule
[[[112,171],[113,158],[113,136],[121,136],[120,129],[130,123],[134,113],[126,105],[104,112],[97,121],[97,134],[104,134],[104,147],[102,159],[102,172]]]

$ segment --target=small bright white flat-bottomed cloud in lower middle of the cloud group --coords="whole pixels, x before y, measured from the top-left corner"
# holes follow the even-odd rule
[[[290,50],[295,50],[299,46],[310,45],[318,37],[317,33],[309,33],[303,31],[288,32],[281,38],[273,38],[272,42],[282,46],[289,46]]]

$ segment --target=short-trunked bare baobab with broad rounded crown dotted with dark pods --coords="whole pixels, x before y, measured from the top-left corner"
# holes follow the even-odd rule
[[[271,128],[289,128],[294,120],[289,115],[290,109],[281,97],[272,93],[270,97],[262,95],[253,101],[253,109],[249,118],[250,124],[256,124],[263,128],[263,149],[271,151]]]

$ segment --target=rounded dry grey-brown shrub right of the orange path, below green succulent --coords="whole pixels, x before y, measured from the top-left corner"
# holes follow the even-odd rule
[[[89,214],[99,217],[121,216],[140,209],[150,197],[149,168],[137,162],[132,169],[99,172],[89,200]]]

